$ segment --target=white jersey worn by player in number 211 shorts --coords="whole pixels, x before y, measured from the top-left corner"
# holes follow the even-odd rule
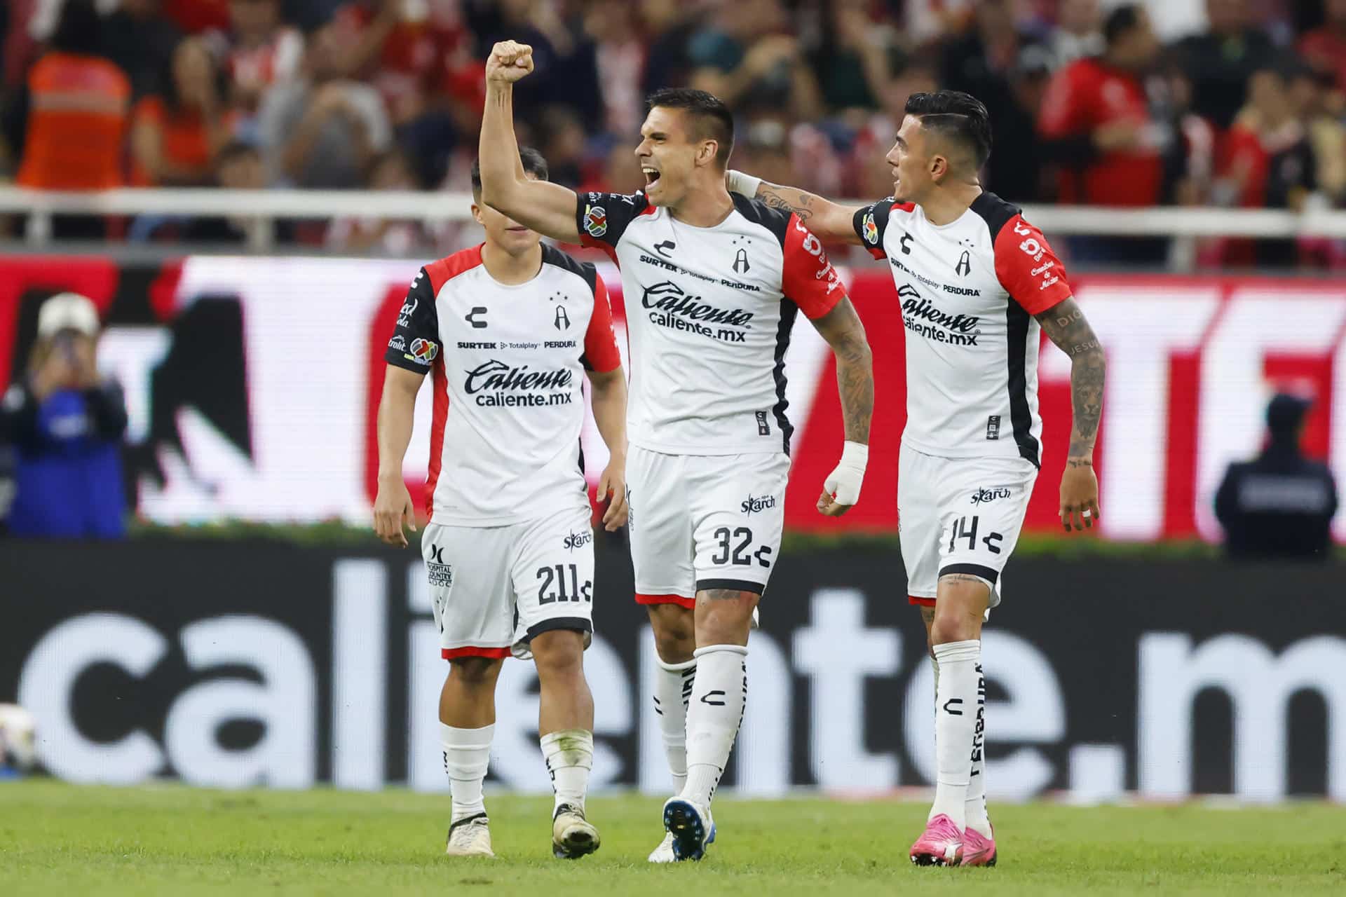
[[[482,247],[423,268],[385,355],[433,374],[429,507],[436,523],[503,526],[588,507],[586,370],[622,362],[592,265],[542,246],[526,284],[495,281]]]

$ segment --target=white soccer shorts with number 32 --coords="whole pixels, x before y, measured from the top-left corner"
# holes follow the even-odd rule
[[[626,490],[639,604],[690,608],[703,589],[766,590],[781,553],[790,457],[664,455],[633,445]]]

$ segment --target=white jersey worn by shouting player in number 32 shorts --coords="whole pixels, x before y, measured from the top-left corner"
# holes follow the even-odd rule
[[[631,342],[627,438],[665,455],[790,451],[785,351],[795,312],[845,296],[793,212],[732,195],[713,227],[674,221],[645,194],[581,194],[586,246],[622,270]]]

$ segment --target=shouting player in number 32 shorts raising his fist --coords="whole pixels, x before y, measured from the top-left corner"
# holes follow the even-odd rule
[[[781,546],[790,329],[802,311],[836,355],[845,444],[818,498],[828,515],[860,495],[870,347],[818,239],[795,215],[725,190],[734,120],[723,102],[656,93],[635,148],[645,190],[577,196],[528,180],[514,161],[513,82],[532,65],[529,47],[513,42],[486,62],[482,198],[548,237],[604,249],[622,270],[631,559],[654,628],[654,699],[677,791],[650,861],[700,859],[743,718],[752,612]]]

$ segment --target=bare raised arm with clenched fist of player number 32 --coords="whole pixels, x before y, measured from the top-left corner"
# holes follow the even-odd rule
[[[491,47],[486,59],[486,113],[478,156],[482,202],[544,237],[577,243],[573,190],[524,173],[514,137],[514,82],[533,70],[533,48],[513,40]]]

